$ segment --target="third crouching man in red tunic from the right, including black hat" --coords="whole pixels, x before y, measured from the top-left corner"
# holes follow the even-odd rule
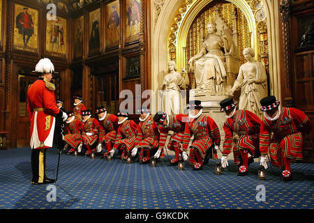
[[[193,170],[200,170],[203,167],[205,157],[217,159],[217,150],[220,145],[220,132],[214,119],[202,114],[200,100],[192,100],[188,104],[188,122],[184,129],[183,149],[187,151],[190,137],[194,139],[190,146],[190,164]]]

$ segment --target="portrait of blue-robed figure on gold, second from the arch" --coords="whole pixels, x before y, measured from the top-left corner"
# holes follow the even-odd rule
[[[106,49],[116,47],[120,39],[120,6],[119,0],[105,6]]]

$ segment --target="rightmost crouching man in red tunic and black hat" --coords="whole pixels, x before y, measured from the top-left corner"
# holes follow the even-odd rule
[[[270,148],[270,162],[282,167],[282,180],[292,180],[290,161],[303,159],[303,141],[311,132],[312,123],[299,109],[280,107],[273,95],[260,100],[260,104],[265,116],[260,126],[260,164],[267,169],[266,155]]]

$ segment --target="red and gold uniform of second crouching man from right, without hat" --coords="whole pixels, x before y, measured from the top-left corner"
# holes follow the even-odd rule
[[[233,132],[239,139],[233,146],[234,164],[237,167],[244,165],[248,170],[248,153],[253,157],[259,157],[259,133],[260,118],[248,110],[238,110],[234,116],[227,118],[223,125],[225,141],[223,142],[223,155],[229,155],[232,150]],[[252,161],[252,160],[251,160]]]

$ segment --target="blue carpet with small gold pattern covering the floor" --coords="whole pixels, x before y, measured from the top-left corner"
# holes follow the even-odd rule
[[[172,158],[170,156],[170,158]],[[282,182],[281,170],[267,169],[267,180],[257,179],[258,163],[251,164],[248,176],[237,176],[232,161],[223,175],[214,174],[216,160],[202,171],[167,166],[156,167],[118,156],[112,161],[96,157],[61,155],[56,185],[57,201],[48,202],[47,185],[31,185],[31,151],[13,148],[0,151],[0,208],[22,209],[308,209],[314,208],[314,164],[294,163],[294,180]],[[47,151],[46,174],[55,178],[57,150]],[[255,197],[257,185],[266,189],[265,201]]]

